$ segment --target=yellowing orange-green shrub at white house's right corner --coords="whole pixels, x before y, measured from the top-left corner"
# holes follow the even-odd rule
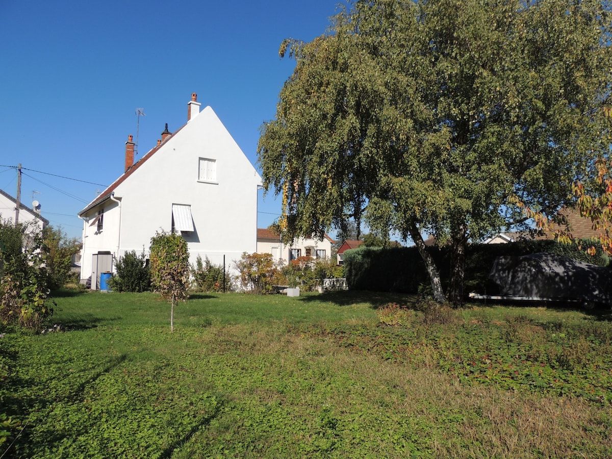
[[[242,288],[258,295],[271,293],[273,286],[283,280],[271,253],[243,252],[241,259],[234,261],[234,267],[240,273]]]

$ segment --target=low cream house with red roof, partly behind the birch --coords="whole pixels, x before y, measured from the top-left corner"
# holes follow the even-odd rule
[[[316,259],[330,258],[332,244],[335,244],[335,241],[327,234],[323,237],[323,241],[312,237],[299,237],[291,244],[282,244],[277,232],[267,228],[257,229],[257,253],[271,253],[275,262],[282,259],[284,264],[300,256],[311,256]]]

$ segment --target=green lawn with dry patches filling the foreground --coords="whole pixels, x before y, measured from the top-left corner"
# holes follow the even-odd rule
[[[612,456],[609,318],[413,300],[200,294],[171,333],[154,294],[64,291],[65,332],[0,330],[0,456]]]

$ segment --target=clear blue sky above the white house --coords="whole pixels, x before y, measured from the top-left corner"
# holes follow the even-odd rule
[[[280,43],[323,34],[339,3],[0,0],[0,188],[16,195],[6,166],[21,163],[22,202],[34,196],[51,225],[80,238],[77,212],[123,173],[136,108],[138,159],[166,122],[171,132],[186,122],[192,92],[257,166],[259,127],[295,65]],[[280,200],[260,191],[258,211],[265,227]]]

